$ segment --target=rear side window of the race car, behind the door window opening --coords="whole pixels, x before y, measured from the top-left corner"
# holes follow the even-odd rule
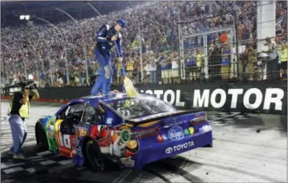
[[[104,116],[97,108],[88,104],[87,108],[85,109],[82,122],[89,124],[101,124],[104,122]]]

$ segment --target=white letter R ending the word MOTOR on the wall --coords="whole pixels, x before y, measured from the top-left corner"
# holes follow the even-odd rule
[[[272,98],[272,95],[276,95]],[[269,110],[271,103],[275,103],[275,110],[282,110],[282,98],[284,97],[284,91],[280,88],[268,88],[264,98],[264,110]]]

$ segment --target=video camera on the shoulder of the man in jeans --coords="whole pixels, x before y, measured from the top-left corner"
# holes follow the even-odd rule
[[[17,92],[24,92],[24,89],[37,89],[37,88],[38,87],[33,80],[17,82],[15,84],[5,85],[5,87],[2,87],[1,95],[9,96]]]

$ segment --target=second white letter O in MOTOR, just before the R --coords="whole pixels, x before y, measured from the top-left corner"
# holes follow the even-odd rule
[[[255,95],[255,102],[254,103],[250,103],[250,101],[249,101],[250,96],[252,94]],[[263,95],[262,95],[262,92],[260,89],[250,88],[244,94],[243,104],[244,104],[245,108],[250,109],[250,110],[254,110],[254,109],[259,108],[259,106],[261,105],[261,102],[262,102],[262,98],[263,98]]]

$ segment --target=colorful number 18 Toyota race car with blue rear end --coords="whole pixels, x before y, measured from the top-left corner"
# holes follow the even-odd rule
[[[55,115],[38,119],[35,129],[43,151],[95,171],[111,162],[141,170],[147,163],[213,145],[206,112],[176,110],[149,94],[73,99]]]

